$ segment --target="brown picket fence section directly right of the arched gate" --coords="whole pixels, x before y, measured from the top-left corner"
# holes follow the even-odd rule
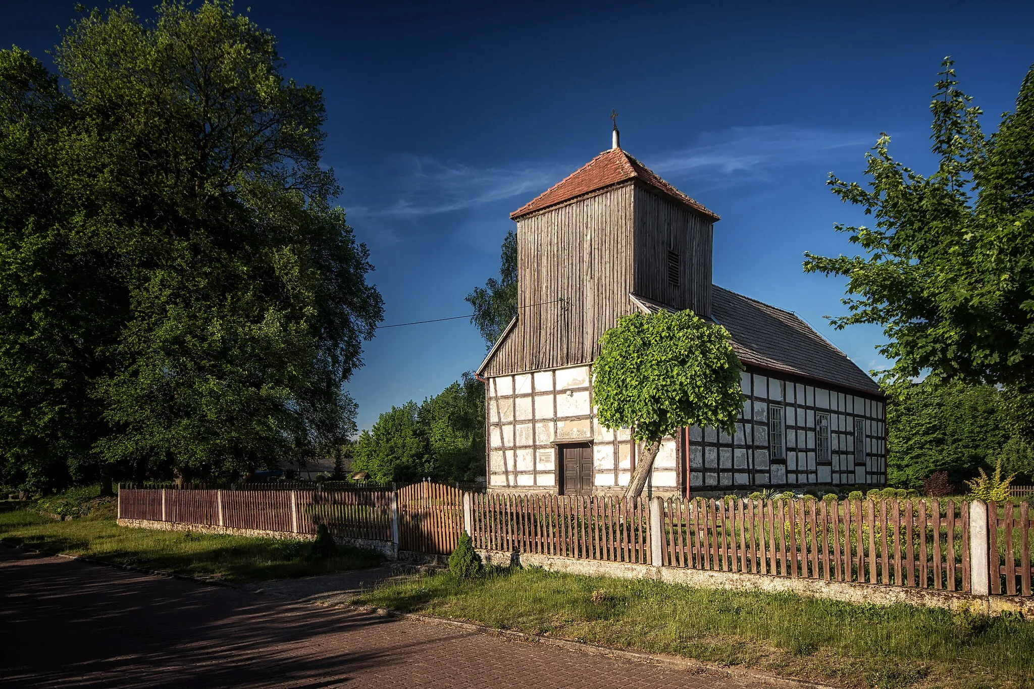
[[[475,547],[649,563],[644,499],[489,493],[470,496]]]

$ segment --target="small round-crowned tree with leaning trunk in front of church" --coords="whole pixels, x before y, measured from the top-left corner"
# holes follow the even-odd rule
[[[626,496],[642,494],[661,440],[687,426],[735,431],[742,370],[729,332],[692,311],[622,316],[600,341],[592,396],[600,422],[642,443]]]

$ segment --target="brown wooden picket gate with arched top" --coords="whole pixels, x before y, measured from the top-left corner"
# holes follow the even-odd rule
[[[452,553],[463,531],[463,494],[442,483],[421,481],[398,492],[399,550]]]

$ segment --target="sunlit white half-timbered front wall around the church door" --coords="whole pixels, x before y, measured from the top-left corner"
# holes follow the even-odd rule
[[[566,442],[592,445],[592,482],[619,491],[632,476],[629,429],[616,432],[597,419],[591,369],[579,366],[488,378],[488,487],[526,487],[555,493],[557,453]],[[679,490],[676,442],[667,438],[653,461],[651,492]]]

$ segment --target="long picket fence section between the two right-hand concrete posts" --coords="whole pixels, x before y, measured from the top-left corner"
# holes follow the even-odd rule
[[[969,591],[969,503],[664,501],[665,566]]]

